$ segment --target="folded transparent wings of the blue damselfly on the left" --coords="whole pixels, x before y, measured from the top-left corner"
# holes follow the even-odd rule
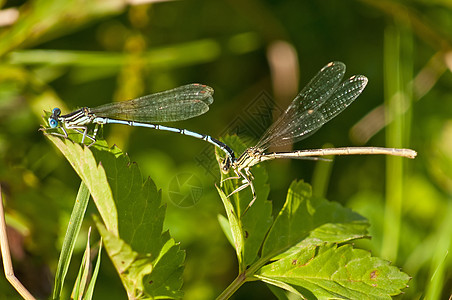
[[[109,103],[90,112],[98,117],[138,122],[172,122],[204,114],[213,102],[213,89],[202,84],[188,84],[137,99]]]

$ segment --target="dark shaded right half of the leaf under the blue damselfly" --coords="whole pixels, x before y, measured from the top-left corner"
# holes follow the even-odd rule
[[[143,183],[136,163],[118,149],[94,148],[93,154],[108,174],[108,182],[118,210],[119,236],[135,251],[157,255],[166,243],[162,235],[165,206],[152,180]]]

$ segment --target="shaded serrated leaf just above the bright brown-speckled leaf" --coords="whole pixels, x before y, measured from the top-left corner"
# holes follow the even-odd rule
[[[262,256],[274,257],[281,254],[307,238],[311,231],[322,225],[357,223],[363,226],[363,222],[365,222],[363,217],[338,203],[313,198],[308,184],[293,182],[289,188],[286,203],[264,242]],[[328,229],[334,229],[334,226]],[[336,230],[340,232],[339,227],[336,227]],[[334,231],[329,232],[328,236],[334,236]],[[323,238],[326,238],[326,235]]]

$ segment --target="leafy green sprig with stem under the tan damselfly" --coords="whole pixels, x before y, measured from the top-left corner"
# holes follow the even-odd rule
[[[226,142],[243,148],[236,138]],[[237,184],[228,184],[226,194],[219,190],[230,224],[229,230],[225,225],[223,230],[232,233],[231,244],[239,263],[239,275],[220,299],[229,298],[240,285],[256,279],[303,298],[390,299],[406,287],[407,274],[367,251],[344,244],[366,237],[368,223],[363,217],[313,196],[308,184],[293,182],[273,221],[271,203],[266,200],[267,175],[260,168],[253,176],[257,200],[243,214],[252,198],[249,191],[233,194],[231,201],[226,195]],[[240,179],[235,181],[241,183]]]

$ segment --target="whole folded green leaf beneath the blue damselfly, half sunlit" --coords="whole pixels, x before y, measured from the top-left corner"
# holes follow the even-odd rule
[[[137,164],[116,147],[82,149],[49,138],[88,186],[105,224],[96,218],[97,228],[129,297],[180,298],[185,254],[162,232],[165,206],[152,180],[143,182]]]

